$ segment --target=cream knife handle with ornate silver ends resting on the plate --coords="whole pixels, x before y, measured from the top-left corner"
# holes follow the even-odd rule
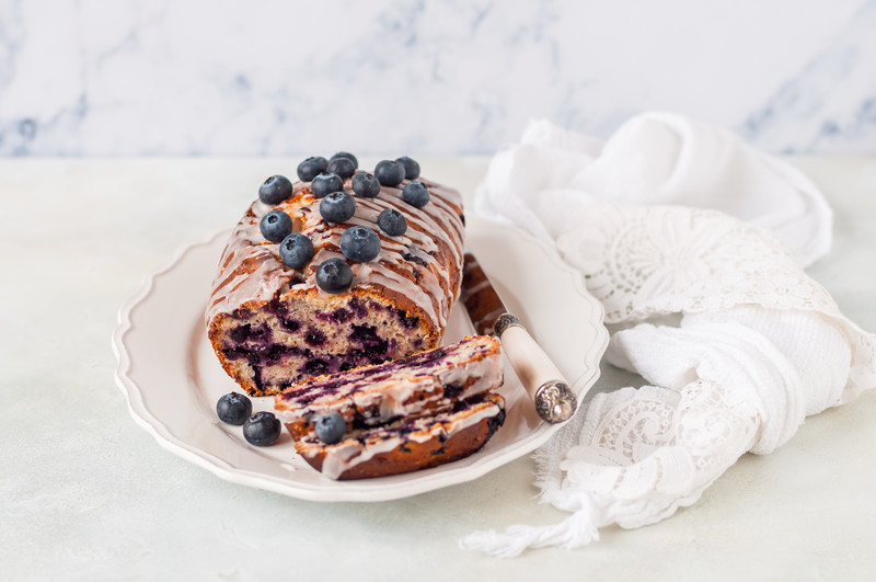
[[[575,392],[520,320],[514,313],[503,313],[494,330],[517,377],[535,402],[539,416],[552,424],[570,419],[578,408]]]

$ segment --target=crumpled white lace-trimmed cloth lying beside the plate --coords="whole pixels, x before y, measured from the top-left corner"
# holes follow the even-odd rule
[[[876,336],[802,269],[830,246],[823,197],[727,132],[646,114],[600,148],[533,123],[476,210],[555,243],[615,330],[608,361],[653,386],[595,396],[537,453],[542,500],[568,518],[464,548],[509,557],[658,522],[876,386]]]

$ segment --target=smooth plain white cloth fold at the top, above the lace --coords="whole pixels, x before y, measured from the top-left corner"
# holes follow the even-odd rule
[[[623,124],[604,144],[532,122],[491,160],[479,214],[553,242],[596,202],[714,208],[775,232],[807,266],[830,248],[832,213],[796,169],[734,134],[669,113]]]

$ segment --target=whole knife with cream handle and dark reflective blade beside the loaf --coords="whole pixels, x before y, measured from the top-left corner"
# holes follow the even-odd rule
[[[475,331],[499,339],[539,416],[552,424],[567,421],[578,408],[575,392],[517,316],[502,303],[474,255],[466,251],[463,261],[460,298]]]

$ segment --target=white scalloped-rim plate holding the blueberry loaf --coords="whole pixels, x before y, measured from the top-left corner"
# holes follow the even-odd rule
[[[560,425],[535,414],[505,363],[505,425],[480,452],[464,459],[406,475],[333,481],[313,470],[284,433],[270,447],[250,446],[239,426],[220,422],[216,401],[239,390],[207,341],[204,307],[229,231],[182,249],[170,265],[147,277],[122,306],[113,347],[116,384],[134,420],[158,443],[234,483],[312,501],[384,501],[476,479],[542,445]],[[506,225],[472,220],[466,243],[506,305],[553,357],[579,398],[596,383],[608,345],[602,306],[580,275],[556,252]],[[451,311],[448,342],[471,333],[468,317]],[[253,399],[272,410],[272,398]]]

